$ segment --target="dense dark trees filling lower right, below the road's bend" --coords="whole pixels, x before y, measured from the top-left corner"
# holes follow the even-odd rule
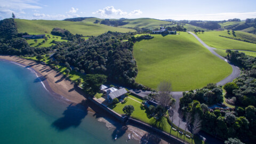
[[[184,92],[180,111],[184,117],[199,116],[202,130],[215,137],[253,143],[256,140],[256,58],[238,51],[227,50],[227,53],[227,59],[242,69],[241,76],[223,86],[227,92],[224,96],[236,107],[218,104],[223,102],[222,88],[209,84],[195,92]],[[212,105],[219,105],[219,108],[209,108]]]

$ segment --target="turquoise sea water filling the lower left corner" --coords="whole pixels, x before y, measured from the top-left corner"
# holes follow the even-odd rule
[[[33,71],[0,60],[0,143],[139,143],[84,108],[55,99]],[[121,127],[118,123],[113,123]]]

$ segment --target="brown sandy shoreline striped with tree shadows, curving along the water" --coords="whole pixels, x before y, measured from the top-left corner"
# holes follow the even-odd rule
[[[108,119],[107,117],[113,117],[108,114],[100,113],[100,108],[95,106],[93,103],[88,102],[86,99],[86,95],[82,92],[82,90],[75,87],[72,81],[64,78],[61,73],[58,73],[49,66],[43,65],[33,60],[23,59],[11,55],[0,55],[0,60],[11,62],[15,65],[19,65],[31,70],[33,73],[35,73],[38,80],[42,83],[46,91],[48,91],[54,99],[73,105],[85,103],[87,110],[90,113],[94,115],[102,115],[102,118],[104,119]],[[107,124],[109,122],[107,121],[103,123]],[[151,133],[133,125],[127,126],[129,127],[127,132],[134,132],[134,134],[137,135],[137,137],[135,138],[137,140],[140,140],[143,135]],[[167,142],[162,139],[161,143]]]

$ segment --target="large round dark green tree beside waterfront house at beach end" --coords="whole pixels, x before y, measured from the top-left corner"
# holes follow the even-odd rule
[[[84,79],[83,89],[89,94],[94,94],[100,91],[100,86],[107,82],[107,76],[99,74],[87,74]]]

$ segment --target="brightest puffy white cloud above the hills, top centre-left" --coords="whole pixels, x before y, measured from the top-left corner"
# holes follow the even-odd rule
[[[130,13],[124,12],[120,9],[115,9],[114,6],[107,6],[102,10],[93,12],[93,14],[99,14],[101,18],[117,18],[117,17],[132,17],[134,15],[140,15],[140,10],[134,10]]]

